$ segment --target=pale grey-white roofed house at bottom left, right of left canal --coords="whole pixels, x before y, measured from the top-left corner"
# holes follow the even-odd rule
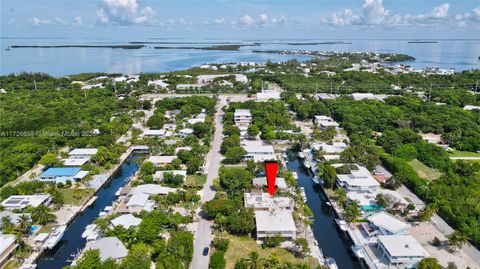
[[[96,249],[100,252],[100,260],[112,259],[119,261],[128,255],[128,249],[117,237],[104,237],[94,241],[86,247],[87,249]]]

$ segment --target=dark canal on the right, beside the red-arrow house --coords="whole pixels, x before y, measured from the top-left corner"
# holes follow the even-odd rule
[[[298,185],[305,188],[307,204],[313,212],[315,220],[312,225],[315,239],[325,257],[333,257],[340,269],[362,268],[350,250],[348,235],[337,229],[335,212],[326,202],[321,187],[315,185],[308,171],[301,165],[295,155],[289,155],[287,167],[298,174]]]

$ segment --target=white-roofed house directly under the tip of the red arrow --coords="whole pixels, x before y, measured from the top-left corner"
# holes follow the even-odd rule
[[[293,210],[294,201],[290,197],[271,196],[268,193],[244,193],[244,206],[259,210]]]

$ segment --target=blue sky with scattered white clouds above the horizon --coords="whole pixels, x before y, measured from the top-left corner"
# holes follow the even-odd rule
[[[2,38],[480,39],[480,0],[0,0]]]

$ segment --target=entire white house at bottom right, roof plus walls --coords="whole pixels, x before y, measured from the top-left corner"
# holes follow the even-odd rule
[[[380,235],[378,248],[390,264],[414,263],[428,256],[425,248],[411,235]]]

